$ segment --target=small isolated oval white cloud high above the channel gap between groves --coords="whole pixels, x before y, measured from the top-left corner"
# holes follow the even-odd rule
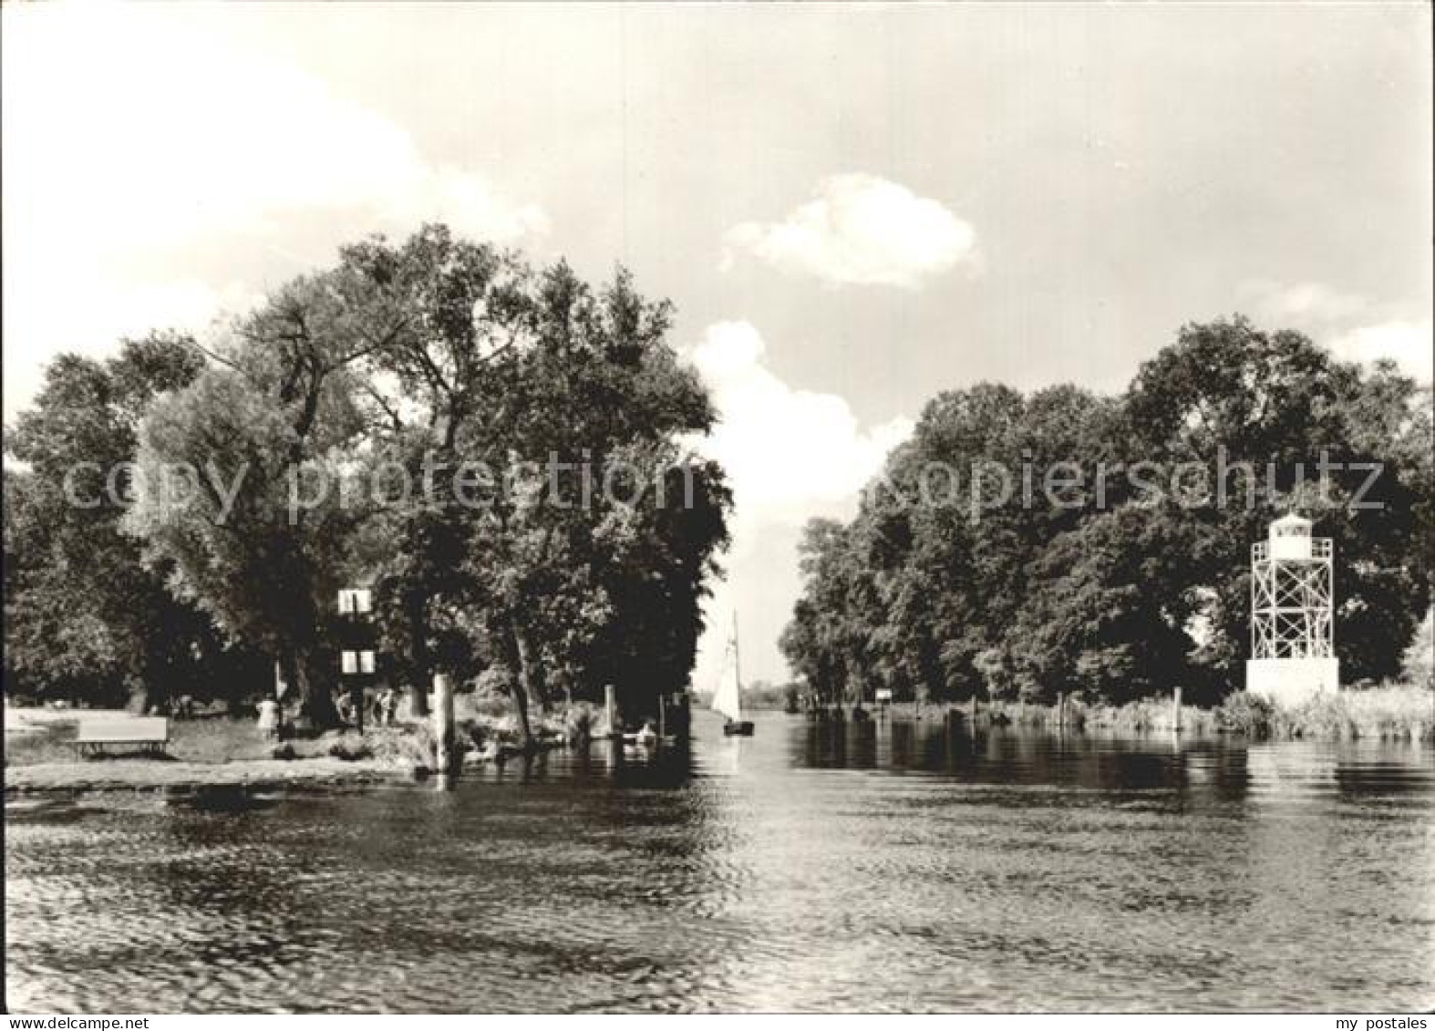
[[[940,202],[874,175],[835,175],[781,222],[728,231],[723,265],[746,251],[828,285],[916,290],[959,265],[979,267],[976,229]]]

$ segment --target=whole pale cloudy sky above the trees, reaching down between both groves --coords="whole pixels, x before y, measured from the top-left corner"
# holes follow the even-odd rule
[[[677,305],[745,680],[938,390],[1241,311],[1431,373],[1431,10],[6,4],[4,420],[425,221]],[[712,637],[712,635],[710,635]],[[705,641],[695,685],[716,667]]]

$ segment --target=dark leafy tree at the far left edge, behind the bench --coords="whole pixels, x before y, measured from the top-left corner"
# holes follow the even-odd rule
[[[121,532],[136,432],[202,357],[175,334],[96,361],[62,354],[6,436],[6,674],[40,695],[115,703],[217,694],[238,673],[202,612],[171,597]],[[217,684],[215,681],[220,681]]]

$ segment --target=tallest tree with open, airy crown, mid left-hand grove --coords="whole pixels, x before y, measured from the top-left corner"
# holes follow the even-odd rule
[[[403,490],[367,528],[353,564],[379,588],[393,673],[412,684],[422,714],[433,673],[464,675],[475,662],[466,566],[478,523],[452,488],[462,462],[494,459],[492,427],[517,400],[515,366],[531,340],[531,272],[515,255],[442,225],[399,245],[373,237],[346,247],[342,267],[393,294],[409,314],[363,363],[372,457],[402,475]]]

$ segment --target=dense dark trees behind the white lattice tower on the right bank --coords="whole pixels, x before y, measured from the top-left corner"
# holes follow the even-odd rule
[[[851,522],[806,526],[782,648],[832,701],[1215,700],[1248,657],[1250,545],[1299,510],[1335,539],[1343,677],[1395,677],[1431,604],[1431,433],[1393,366],[1241,317],[1182,328],[1118,397],[946,391]]]

